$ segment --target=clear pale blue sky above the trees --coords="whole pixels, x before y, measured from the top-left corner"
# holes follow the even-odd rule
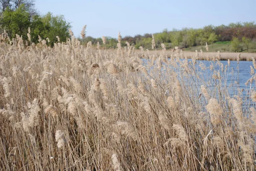
[[[63,14],[75,36],[144,35],[163,29],[256,22],[256,0],[36,0],[41,14]]]

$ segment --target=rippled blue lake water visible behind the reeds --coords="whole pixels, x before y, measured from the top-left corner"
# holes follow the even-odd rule
[[[147,62],[147,60],[143,60],[144,64],[146,64]],[[192,60],[188,59],[188,62],[192,63]],[[205,70],[201,69],[200,66],[202,66],[202,64],[205,66]],[[223,71],[221,70],[221,65],[223,65]],[[188,66],[190,68],[193,67],[192,64],[189,64]],[[227,72],[224,71],[226,66]],[[237,61],[230,61],[230,66],[228,66],[228,61],[213,62],[197,60],[194,69],[200,78],[191,79],[190,81],[186,82],[186,86],[197,88],[200,90],[200,86],[204,85],[207,87],[209,92],[212,92],[212,90],[215,89],[216,86],[218,86],[218,81],[221,81],[221,84],[219,85],[221,85],[222,90],[227,90],[228,96],[233,98],[235,95],[239,94],[239,97],[243,98],[243,105],[251,105],[252,103],[249,103],[251,92],[250,90],[255,90],[256,84],[255,81],[253,81],[251,84],[245,84],[247,80],[249,80],[253,76],[250,75],[250,66],[253,66],[252,61],[239,61],[239,63]],[[211,67],[214,67],[215,71],[220,71],[221,79],[218,79],[218,81],[214,81],[214,79],[212,79],[212,75],[216,74],[216,72],[214,72],[214,70],[211,70]],[[180,66],[176,70],[180,71],[177,72],[178,75],[183,72],[183,68],[180,68]],[[256,72],[256,70],[254,70],[254,72]],[[198,92],[198,94],[199,93],[201,92]],[[198,96],[198,94],[196,94],[195,96]]]

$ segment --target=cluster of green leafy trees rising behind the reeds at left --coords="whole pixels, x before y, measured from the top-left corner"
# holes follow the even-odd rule
[[[53,16],[50,12],[39,15],[33,9],[33,1],[9,0],[6,3],[0,0],[0,32],[6,32],[9,38],[15,38],[16,34],[24,40],[38,43],[38,35],[41,39],[49,40],[48,44],[53,46],[57,41],[66,41],[69,38],[68,29],[71,28],[63,15]],[[8,5],[9,4],[9,5]],[[28,40],[27,32],[30,28],[31,40]]]

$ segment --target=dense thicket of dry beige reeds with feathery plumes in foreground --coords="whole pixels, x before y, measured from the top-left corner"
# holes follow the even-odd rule
[[[93,49],[70,35],[53,48],[2,35],[0,170],[255,170],[255,60],[242,105],[221,54],[135,52],[120,35],[116,50],[104,37]]]

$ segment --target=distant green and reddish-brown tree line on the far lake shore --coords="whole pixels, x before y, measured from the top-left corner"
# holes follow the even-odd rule
[[[154,33],[156,48],[161,48],[161,43],[166,45],[166,49],[179,46],[180,48],[188,48],[192,46],[205,45],[205,42],[212,44],[215,42],[230,41],[232,49],[235,52],[241,51],[241,43],[247,49],[255,48],[256,46],[256,24],[254,22],[230,23],[229,25],[221,26],[204,26],[200,29],[183,28],[181,30],[172,29],[168,31],[164,29],[162,32]],[[122,38],[122,45],[125,42],[133,43],[136,49],[143,46],[145,49],[151,49],[151,34],[125,36]],[[93,38],[88,36],[84,39],[85,42],[91,41],[96,45],[97,42],[102,43],[101,38]],[[107,37],[107,48],[116,48],[117,39]]]

